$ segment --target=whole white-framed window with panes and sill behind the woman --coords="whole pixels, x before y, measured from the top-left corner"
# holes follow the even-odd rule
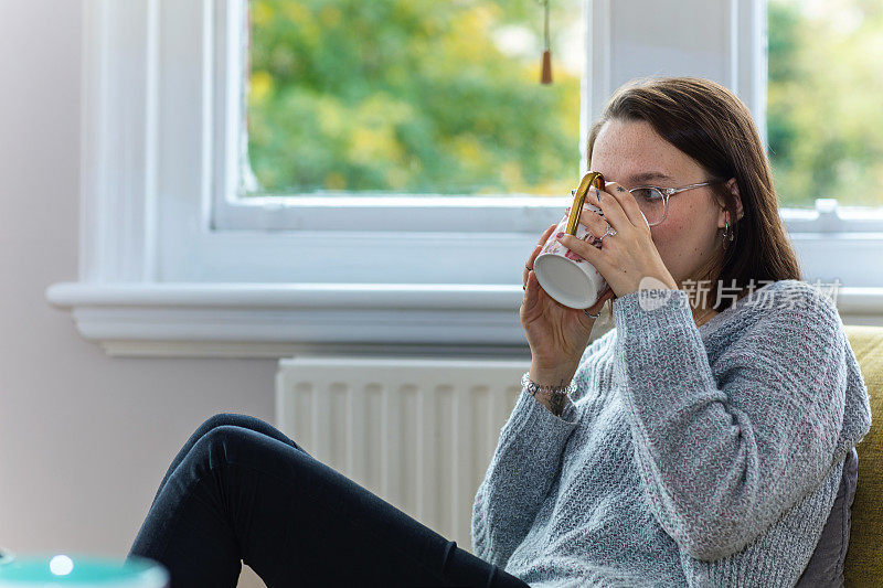
[[[770,0],[776,6],[783,1]],[[852,36],[842,38],[843,43],[852,42],[853,36],[857,42],[864,39],[870,34],[863,32],[864,26],[880,22],[873,2],[849,1],[859,7],[864,20]],[[552,1],[557,11],[551,22],[555,82],[540,86],[542,13],[535,0],[254,0],[251,4],[245,0],[84,0],[81,268],[78,281],[53,285],[47,298],[73,309],[84,336],[102,342],[110,353],[127,355],[279,356],[327,348],[523,355],[526,348],[518,307],[524,259],[542,228],[561,218],[572,200],[567,189],[587,171],[588,124],[616,87],[647,74],[709,77],[734,89],[756,120],[766,120],[766,2],[678,0],[677,4],[678,10],[664,10],[656,0]],[[822,2],[809,4],[821,7]],[[491,60],[496,67],[507,70],[498,72],[502,76],[521,71],[522,92],[529,98],[557,96],[552,104],[562,109],[541,120],[564,125],[566,128],[554,132],[568,145],[553,146],[549,139],[553,135],[545,135],[552,129],[535,130],[531,137],[542,137],[540,143],[545,147],[540,162],[531,168],[523,154],[520,159],[512,156],[523,151],[524,138],[506,135],[503,124],[490,124],[490,130],[482,130],[479,120],[466,117],[469,124],[460,132],[450,126],[456,116],[421,118],[426,104],[442,115],[445,107],[471,115],[471,101],[409,103],[392,90],[377,89],[376,84],[364,92],[363,99],[349,103],[333,96],[323,100],[315,93],[306,93],[305,99],[304,92],[289,89],[294,96],[287,98],[290,104],[268,109],[275,104],[273,96],[278,96],[274,92],[283,92],[281,86],[290,79],[299,84],[300,78],[279,82],[279,74],[294,65],[290,52],[275,54],[268,49],[268,40],[276,34],[273,23],[285,23],[274,20],[272,13],[257,14],[267,8],[307,10],[306,17],[296,14],[302,22],[325,19],[307,33],[317,43],[323,32],[334,30],[332,25],[343,18],[344,9],[359,14],[374,10],[375,18],[383,19],[398,11],[406,20],[419,21],[415,24],[418,30],[434,26],[419,20],[427,13],[454,21],[479,14],[481,18],[467,22],[489,33],[472,40],[471,46],[481,49],[475,54],[469,45],[459,47],[466,52],[462,60],[476,58],[485,65]],[[800,8],[799,18],[815,18],[812,10],[817,9]],[[786,10],[790,8],[781,8]],[[829,71],[838,87],[826,87],[826,78],[817,77],[813,88],[799,77],[807,73],[806,66],[796,71],[797,77],[781,76],[777,63],[785,62],[776,62],[776,55],[789,45],[775,40],[790,38],[785,34],[787,28],[777,24],[778,18],[769,18],[769,26],[783,33],[770,36],[769,110],[777,180],[788,199],[783,201],[783,218],[805,276],[823,281],[839,278],[847,285],[838,293],[844,321],[851,313],[873,314],[883,299],[883,288],[879,288],[883,266],[876,259],[883,240],[883,207],[879,190],[862,189],[880,173],[865,167],[862,158],[875,157],[879,163],[879,151],[874,151],[879,150],[880,143],[874,142],[879,135],[873,135],[879,125],[860,125],[840,111],[823,111],[823,120],[834,124],[821,129],[806,127],[823,139],[818,143],[821,147],[813,148],[820,159],[807,159],[808,167],[801,162],[809,143],[784,139],[805,128],[800,127],[802,113],[811,109],[812,100],[827,100],[830,92],[842,94],[839,108],[874,120],[874,113],[865,114],[872,103],[864,101],[861,90],[866,87],[871,96],[880,93],[881,88],[873,86],[880,79],[873,77],[880,75],[873,67],[880,62],[874,53],[879,49],[873,43],[861,45],[853,74]],[[854,26],[854,19],[849,18],[845,24],[833,21],[833,28]],[[585,35],[578,43],[570,36],[576,29]],[[468,39],[450,38],[457,26],[439,30],[444,39]],[[254,36],[252,45],[249,35]],[[571,62],[565,55],[578,54],[579,44],[584,44],[585,58],[575,93],[578,66],[567,64],[577,60]],[[251,53],[248,46],[254,47]],[[839,46],[813,51],[840,55]],[[413,88],[401,79],[407,77],[402,63],[418,67],[423,62],[417,57],[442,58],[435,49],[428,51],[429,56],[421,56],[418,50],[415,53],[397,56],[404,60],[395,62],[400,70],[385,74],[398,81],[398,89]],[[796,63],[815,63],[825,56],[821,53],[807,53]],[[372,57],[368,53],[359,58],[368,67]],[[373,58],[376,61],[376,55]],[[862,73],[865,66],[868,75]],[[426,67],[432,73],[438,65]],[[461,77],[458,72],[450,84],[486,92],[485,81],[479,78],[491,75],[497,74],[469,70]],[[849,75],[861,82],[844,82],[852,79]],[[571,84],[571,90],[565,84]],[[802,92],[789,94],[789,85],[801,85],[807,94],[810,88],[818,90],[813,94],[818,98]],[[525,105],[531,101],[525,100]],[[577,116],[575,108],[578,129],[571,127],[573,122],[561,122],[572,121]],[[309,116],[302,116],[304,111]],[[287,118],[297,113],[301,113],[300,119]],[[328,113],[329,118],[321,118]],[[402,113],[416,118],[402,118]],[[345,119],[345,127],[334,121],[334,114]],[[511,110],[492,114],[515,116]],[[521,111],[517,115],[521,117]],[[401,120],[423,122],[408,126]],[[438,120],[447,120],[449,126]],[[520,122],[520,118],[515,120],[515,125]],[[362,130],[359,138],[344,137],[350,141],[343,143],[349,159],[340,160],[342,163],[305,168],[298,158],[312,161],[309,158],[315,153],[298,151],[297,142],[292,151],[285,139],[278,139],[285,133],[276,135],[286,130],[297,137],[305,125],[320,130],[326,125],[332,138],[334,129],[341,136],[349,129]],[[535,129],[539,124],[531,125],[529,128]],[[760,127],[765,132],[766,127]],[[433,128],[447,130],[436,131],[435,141],[414,139],[415,133]],[[840,129],[860,140],[834,140],[826,135]],[[491,132],[493,139],[482,142],[479,131]],[[277,149],[274,141],[281,141],[283,148]],[[496,143],[502,143],[499,152],[488,147]],[[857,150],[857,146],[870,151]],[[448,151],[439,151],[443,147]],[[383,149],[392,156],[381,157]],[[429,154],[424,158],[421,149],[428,149]],[[432,168],[438,152],[483,151],[491,152],[483,163],[481,157],[448,156],[446,164],[460,170],[451,181],[439,171],[408,173],[412,167]],[[297,160],[296,165],[287,165],[286,159]],[[510,160],[515,167],[506,167]],[[845,201],[851,194],[842,191],[807,189],[806,170],[817,173],[819,162],[830,163],[836,178],[832,185],[854,179],[857,199],[875,193],[877,200],[868,203],[876,205],[837,207],[833,201],[817,200],[832,195],[850,205],[864,202]],[[336,177],[338,168],[345,173]],[[310,179],[305,169],[322,172]],[[501,173],[507,169],[518,171]],[[818,178],[812,178],[818,183]],[[813,200],[815,210],[800,207]]]

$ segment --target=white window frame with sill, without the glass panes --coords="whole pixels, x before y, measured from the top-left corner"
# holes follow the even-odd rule
[[[243,148],[235,2],[84,0],[79,272],[49,300],[119,355],[529,355],[521,268],[570,197],[232,197]],[[617,11],[662,10],[626,6],[586,0],[583,172],[588,121],[636,75],[621,65],[621,30],[611,33]],[[722,50],[672,50],[675,65],[663,55],[652,73],[717,78],[765,120],[765,2],[725,6]],[[645,62],[660,53],[628,50]],[[833,204],[781,216],[805,274],[855,285],[840,289],[841,313],[875,321],[883,210]]]

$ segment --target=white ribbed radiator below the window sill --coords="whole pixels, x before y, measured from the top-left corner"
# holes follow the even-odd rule
[[[281,360],[276,426],[471,550],[472,500],[529,368],[526,360]]]

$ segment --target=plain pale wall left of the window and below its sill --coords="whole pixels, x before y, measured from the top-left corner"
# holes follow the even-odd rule
[[[273,423],[276,362],[110,359],[45,288],[75,280],[78,0],[0,0],[0,545],[124,557],[217,411]]]

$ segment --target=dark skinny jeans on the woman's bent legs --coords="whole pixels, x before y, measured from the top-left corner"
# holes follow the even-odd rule
[[[311,457],[272,425],[219,414],[184,443],[129,555],[172,588],[528,585]]]

